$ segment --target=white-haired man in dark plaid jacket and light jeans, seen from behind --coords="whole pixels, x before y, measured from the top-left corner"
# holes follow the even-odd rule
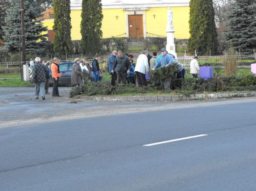
[[[31,81],[35,84],[35,99],[39,99],[39,93],[41,94],[42,99],[45,99],[45,73],[48,72],[48,68],[41,63],[39,57],[35,58],[35,62],[31,77]]]

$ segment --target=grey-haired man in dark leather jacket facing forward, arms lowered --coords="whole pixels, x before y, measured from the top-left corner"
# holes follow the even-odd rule
[[[119,50],[117,53],[118,57],[116,57],[111,73],[114,73],[116,69],[117,83],[125,84],[126,74],[130,74],[130,62],[121,50]]]

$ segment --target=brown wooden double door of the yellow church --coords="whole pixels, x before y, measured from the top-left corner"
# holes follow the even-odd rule
[[[143,37],[143,17],[142,15],[128,15],[129,37],[134,41],[139,41]]]

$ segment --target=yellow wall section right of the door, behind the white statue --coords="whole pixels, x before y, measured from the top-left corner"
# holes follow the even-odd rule
[[[147,32],[166,36],[168,7],[149,8],[146,11],[146,29]],[[177,39],[188,39],[189,34],[189,7],[171,7],[173,11],[174,37]],[[154,19],[154,16],[155,19]],[[147,34],[147,36],[154,36]]]

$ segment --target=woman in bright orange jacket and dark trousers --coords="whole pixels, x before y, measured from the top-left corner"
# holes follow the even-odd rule
[[[58,85],[59,85],[59,78],[61,77],[61,74],[59,71],[59,63],[58,63],[57,57],[53,58],[53,63],[51,64],[51,73],[53,77],[53,92],[51,93],[51,95],[53,97],[60,97],[61,95],[59,95]]]

